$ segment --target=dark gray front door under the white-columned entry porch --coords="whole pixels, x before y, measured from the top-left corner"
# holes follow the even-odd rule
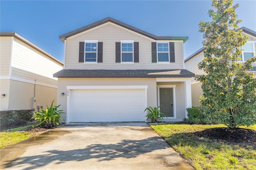
[[[160,111],[166,117],[174,117],[173,115],[173,88],[160,88]]]

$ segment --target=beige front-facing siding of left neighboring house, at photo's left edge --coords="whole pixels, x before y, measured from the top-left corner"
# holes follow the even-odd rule
[[[9,75],[12,51],[12,37],[0,37],[0,73]]]

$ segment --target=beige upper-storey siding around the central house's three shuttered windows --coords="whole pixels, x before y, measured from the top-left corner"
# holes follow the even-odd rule
[[[78,62],[79,42],[84,42],[84,40],[103,42],[103,63]],[[139,63],[116,63],[115,43],[120,40],[139,42]],[[183,41],[173,41],[175,42],[175,63],[169,64],[152,63],[151,42],[156,41],[115,24],[105,24],[66,40],[65,69],[183,69]]]

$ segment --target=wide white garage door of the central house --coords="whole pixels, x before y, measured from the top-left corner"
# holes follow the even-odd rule
[[[69,122],[145,121],[144,89],[70,90]]]

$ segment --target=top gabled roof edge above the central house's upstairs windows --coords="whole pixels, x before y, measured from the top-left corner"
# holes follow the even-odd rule
[[[117,24],[119,26],[127,28],[128,30],[132,30],[134,32],[137,32],[139,34],[142,34],[144,36],[152,38],[153,40],[183,40],[183,43],[188,40],[188,37],[183,37],[183,36],[155,36],[154,34],[150,34],[150,33],[146,32],[146,31],[140,30],[138,28],[135,28],[133,26],[125,24],[124,22],[120,22],[118,20],[115,20],[114,18],[111,18],[111,17],[104,18],[103,20],[99,20],[97,22],[94,22],[94,23],[89,24],[87,26],[84,26],[82,28],[78,28],[78,29],[76,29],[74,31],[68,32],[66,34],[63,34],[63,35],[60,36],[60,40],[62,40],[62,42],[64,42],[64,40],[66,40],[67,38],[69,38],[71,36],[74,36],[76,34],[84,32],[86,30],[90,30],[90,29],[92,29],[94,27],[100,26],[100,25],[105,24],[107,22],[112,22],[114,24]]]

